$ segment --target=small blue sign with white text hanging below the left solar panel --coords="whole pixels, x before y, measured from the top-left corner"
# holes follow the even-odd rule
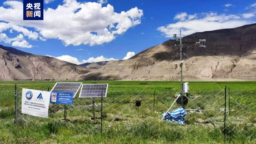
[[[51,103],[72,105],[73,92],[51,92]]]

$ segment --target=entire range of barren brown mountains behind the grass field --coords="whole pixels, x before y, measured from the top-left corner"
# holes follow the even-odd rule
[[[184,44],[184,80],[256,80],[256,24],[205,31],[182,38],[206,39],[206,48]],[[128,60],[75,65],[0,45],[0,80],[179,80],[179,48],[175,40],[153,46]],[[177,55],[178,54],[178,55]]]

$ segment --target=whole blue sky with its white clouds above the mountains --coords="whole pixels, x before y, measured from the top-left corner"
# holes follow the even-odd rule
[[[81,64],[127,59],[180,29],[189,35],[256,20],[256,0],[44,2],[43,21],[24,21],[23,0],[0,0],[0,44]]]

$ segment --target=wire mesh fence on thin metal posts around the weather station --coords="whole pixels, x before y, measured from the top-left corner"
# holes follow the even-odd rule
[[[47,89],[41,89],[47,91]],[[148,131],[158,135],[157,127],[171,127],[177,137],[197,138],[198,133],[217,134],[225,140],[256,138],[256,92],[223,90],[190,91],[185,107],[185,124],[160,121],[175,100],[176,92],[109,92],[106,98],[73,98],[72,105],[50,103],[48,118],[21,113],[22,88],[15,92],[15,125],[30,127],[50,124],[53,129],[72,129],[70,135],[104,132]],[[16,100],[16,99],[15,99]],[[140,102],[136,106],[136,101]],[[137,103],[138,104],[138,103]],[[176,103],[170,110],[179,108]],[[101,129],[102,120],[102,129]],[[54,130],[53,130],[54,131]],[[70,132],[70,131],[69,131]]]

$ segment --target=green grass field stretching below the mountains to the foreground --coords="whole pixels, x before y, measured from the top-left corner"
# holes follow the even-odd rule
[[[1,81],[0,143],[224,143],[224,86],[230,88],[232,98],[231,114],[227,115],[228,133],[225,142],[256,143],[254,81],[216,82],[217,85],[214,82],[189,82],[189,97],[217,123],[215,126],[213,120],[203,113],[186,114],[186,124],[182,126],[160,122],[161,113],[167,111],[175,100],[175,92],[180,90],[179,82],[78,82],[109,84],[107,98],[103,99],[102,134],[100,120],[90,120],[93,116],[92,99],[81,99],[78,95],[73,99],[73,105],[68,106],[68,122],[62,120],[63,105],[50,104],[48,119],[23,115],[18,111],[18,123],[14,126],[15,83],[18,86],[20,110],[20,87],[47,91],[48,87],[52,89],[56,81]],[[139,113],[135,100],[141,100],[142,103]],[[95,114],[99,118],[100,98],[96,98],[95,103]],[[187,108],[197,109],[191,102]]]

